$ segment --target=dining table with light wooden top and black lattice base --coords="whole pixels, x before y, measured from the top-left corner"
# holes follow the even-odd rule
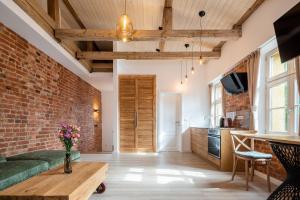
[[[300,200],[300,136],[234,130],[231,131],[231,134],[249,138],[252,141],[268,141],[273,153],[286,170],[286,179],[267,200]]]

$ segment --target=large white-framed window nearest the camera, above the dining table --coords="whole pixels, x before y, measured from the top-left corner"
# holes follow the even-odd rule
[[[278,50],[267,55],[267,132],[296,133],[299,121],[299,94],[295,61],[281,64]]]

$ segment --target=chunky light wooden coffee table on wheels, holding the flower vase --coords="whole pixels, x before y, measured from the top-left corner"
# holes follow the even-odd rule
[[[41,173],[0,191],[1,200],[86,200],[93,192],[105,190],[107,163],[73,162],[72,174],[63,166]]]

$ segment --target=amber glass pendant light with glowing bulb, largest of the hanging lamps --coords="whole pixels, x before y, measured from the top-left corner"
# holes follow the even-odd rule
[[[126,3],[127,2],[125,0],[124,3],[125,11],[124,14],[121,15],[117,24],[117,37],[119,38],[119,40],[122,40],[123,42],[131,41],[133,37],[133,26],[128,15],[126,14],[127,11]]]

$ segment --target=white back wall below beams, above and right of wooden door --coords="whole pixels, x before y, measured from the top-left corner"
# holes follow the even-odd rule
[[[196,66],[196,73],[189,73],[188,82],[180,87],[179,60],[118,60],[118,74],[156,75],[157,97],[160,92],[177,92],[182,94],[182,123],[184,132],[190,126],[207,127],[208,120],[208,86],[202,66]],[[191,62],[188,63],[189,72]],[[159,102],[157,102],[158,105]],[[158,109],[157,109],[158,110]],[[190,151],[189,133],[183,135],[182,151]]]

